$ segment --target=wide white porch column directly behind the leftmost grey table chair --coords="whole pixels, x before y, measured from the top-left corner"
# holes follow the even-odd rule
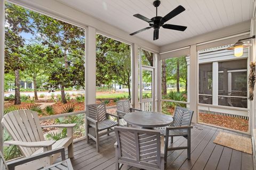
[[[96,29],[86,29],[85,51],[85,95],[86,104],[94,104],[96,101]]]

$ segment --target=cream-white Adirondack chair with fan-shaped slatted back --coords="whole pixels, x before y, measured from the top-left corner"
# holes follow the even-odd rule
[[[73,156],[73,128],[76,124],[57,124],[41,126],[38,113],[29,110],[19,110],[7,113],[2,119],[2,124],[6,131],[11,135],[13,141],[5,141],[7,145],[16,145],[25,157],[41,154],[44,151],[57,149],[60,147],[68,148],[68,157]],[[46,141],[42,128],[67,128],[67,138],[58,141]],[[30,169],[33,166],[41,168],[52,165],[60,154],[54,154],[33,162],[20,165],[16,169]]]

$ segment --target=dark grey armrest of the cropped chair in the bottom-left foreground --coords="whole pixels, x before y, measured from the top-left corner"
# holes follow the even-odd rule
[[[62,161],[66,159],[66,157],[65,157],[65,149],[62,147],[62,148],[46,151],[46,152],[43,152],[42,154],[37,154],[35,156],[30,156],[30,157],[26,157],[26,158],[21,158],[21,159],[13,160],[11,162],[8,162],[7,166],[9,168],[9,170],[14,170],[15,166],[26,164],[26,163],[31,162],[33,160],[44,158],[46,156],[51,156],[51,155],[57,154],[57,153],[61,153]]]

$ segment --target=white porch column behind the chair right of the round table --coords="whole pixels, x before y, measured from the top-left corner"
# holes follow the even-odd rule
[[[189,102],[191,111],[194,111],[193,123],[197,123],[197,52],[196,45],[190,46],[190,71],[189,71]]]

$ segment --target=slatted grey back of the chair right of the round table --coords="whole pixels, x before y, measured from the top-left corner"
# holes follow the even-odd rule
[[[187,108],[176,106],[172,126],[190,126],[193,113]]]

